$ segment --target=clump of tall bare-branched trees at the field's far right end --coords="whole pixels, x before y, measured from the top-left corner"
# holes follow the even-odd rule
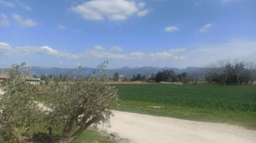
[[[208,85],[245,85],[256,80],[256,64],[235,60],[232,63],[222,60],[202,68],[202,75]]]

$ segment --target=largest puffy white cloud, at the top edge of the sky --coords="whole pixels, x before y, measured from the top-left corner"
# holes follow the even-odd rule
[[[142,3],[139,4],[139,7],[142,5]],[[112,21],[128,19],[137,12],[139,16],[148,13],[146,10],[139,11],[136,3],[128,0],[90,0],[72,6],[72,11],[80,14],[84,19],[103,20],[107,18]]]

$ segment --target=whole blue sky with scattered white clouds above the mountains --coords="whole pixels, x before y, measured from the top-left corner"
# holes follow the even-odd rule
[[[256,60],[255,0],[0,0],[0,68]]]

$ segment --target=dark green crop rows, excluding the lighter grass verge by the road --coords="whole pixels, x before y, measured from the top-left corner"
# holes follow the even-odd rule
[[[121,100],[211,109],[256,111],[255,87],[115,85]]]

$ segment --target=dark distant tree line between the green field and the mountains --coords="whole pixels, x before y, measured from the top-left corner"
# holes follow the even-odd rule
[[[72,80],[68,75],[53,76],[41,75],[41,80],[48,83],[49,79],[55,81],[65,81],[66,79]],[[244,62],[234,60],[221,60],[215,64],[209,64],[201,68],[198,72],[182,72],[176,73],[173,70],[158,71],[155,75],[152,73],[150,77],[146,77],[140,73],[134,74],[132,78],[120,76],[115,72],[114,81],[143,81],[143,82],[178,82],[183,85],[192,83],[197,85],[200,81],[206,81],[208,85],[253,85],[256,81],[256,64],[253,62]]]

